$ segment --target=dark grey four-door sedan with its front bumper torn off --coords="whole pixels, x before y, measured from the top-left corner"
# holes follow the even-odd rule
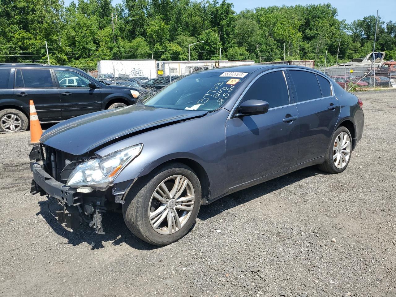
[[[61,204],[65,227],[103,234],[102,213],[122,208],[133,234],[166,245],[201,204],[307,166],[343,172],[363,126],[362,101],[309,68],[196,72],[46,130],[30,153],[31,192]]]

